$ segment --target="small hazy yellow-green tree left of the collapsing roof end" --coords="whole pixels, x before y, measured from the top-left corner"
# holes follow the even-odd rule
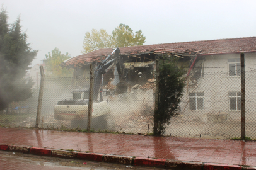
[[[47,76],[55,76],[55,77],[71,77],[73,72],[71,70],[66,69],[66,67],[62,68],[59,66],[64,60],[70,59],[68,53],[61,54],[59,48],[54,48],[52,50],[52,54],[49,52],[48,55],[45,55],[45,64],[47,68]]]

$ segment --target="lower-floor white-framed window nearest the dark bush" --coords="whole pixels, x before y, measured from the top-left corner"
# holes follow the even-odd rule
[[[190,110],[204,109],[204,92],[189,93]]]

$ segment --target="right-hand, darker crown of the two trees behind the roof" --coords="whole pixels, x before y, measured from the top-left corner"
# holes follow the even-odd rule
[[[143,45],[146,37],[141,30],[136,31],[135,35],[128,25],[120,24],[112,32],[111,42],[113,47],[129,47],[134,45]]]

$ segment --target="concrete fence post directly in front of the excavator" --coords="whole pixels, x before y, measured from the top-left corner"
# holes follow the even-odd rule
[[[93,112],[93,65],[90,64],[90,92],[89,92],[89,103],[88,103],[88,120],[87,120],[87,130],[91,128],[91,115]]]

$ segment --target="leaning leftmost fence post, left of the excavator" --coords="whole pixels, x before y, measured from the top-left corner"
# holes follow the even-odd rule
[[[40,66],[40,74],[41,74],[41,81],[40,81],[40,89],[39,89],[39,96],[38,96],[37,119],[35,120],[35,128],[39,128],[43,92],[44,92],[44,67],[42,65]]]

